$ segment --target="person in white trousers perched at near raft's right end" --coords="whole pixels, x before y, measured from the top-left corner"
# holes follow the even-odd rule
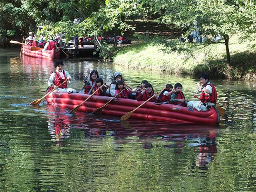
[[[201,73],[199,76],[200,84],[198,92],[200,92],[201,102],[190,101],[188,102],[188,107],[196,109],[198,111],[207,111],[209,108],[215,105],[217,101],[217,92],[215,87],[209,82],[209,75],[207,73]]]

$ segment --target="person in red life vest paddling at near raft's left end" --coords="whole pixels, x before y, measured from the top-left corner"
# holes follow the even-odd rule
[[[51,87],[51,90],[55,89],[53,92],[76,93],[76,90],[72,88],[68,88],[67,82],[62,84],[66,79],[68,79],[69,82],[72,81],[70,74],[67,71],[62,70],[63,66],[64,64],[61,60],[58,60],[54,63],[54,67],[56,68],[56,71],[51,74],[48,80],[48,85]],[[62,84],[62,86],[57,88],[60,84]]]

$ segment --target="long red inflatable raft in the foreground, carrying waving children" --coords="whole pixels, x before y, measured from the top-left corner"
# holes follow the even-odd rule
[[[86,100],[88,96],[87,94],[57,92],[49,94],[46,97],[46,101],[54,106],[72,110]],[[78,111],[93,112],[111,99],[111,97],[106,96],[92,96],[80,106]],[[143,101],[115,98],[104,107],[101,114],[121,117],[127,112],[134,110],[142,103]],[[198,112],[197,110],[178,105],[156,105],[154,102],[147,102],[142,107],[138,108],[131,115],[131,118],[185,124],[218,124],[220,122],[220,115],[215,107],[206,112]]]

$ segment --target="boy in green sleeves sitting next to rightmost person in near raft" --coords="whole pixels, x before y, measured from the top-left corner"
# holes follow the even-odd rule
[[[182,92],[182,84],[176,83],[174,85],[175,93],[171,94],[169,104],[180,105],[186,107],[188,102],[185,100],[185,96]]]

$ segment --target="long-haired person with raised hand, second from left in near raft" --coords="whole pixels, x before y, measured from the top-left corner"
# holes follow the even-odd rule
[[[99,78],[99,74],[97,70],[92,70],[90,72],[90,68],[87,70],[87,76],[84,78],[84,94],[91,94],[92,89],[96,87],[96,79]],[[91,90],[91,91],[90,91]]]

